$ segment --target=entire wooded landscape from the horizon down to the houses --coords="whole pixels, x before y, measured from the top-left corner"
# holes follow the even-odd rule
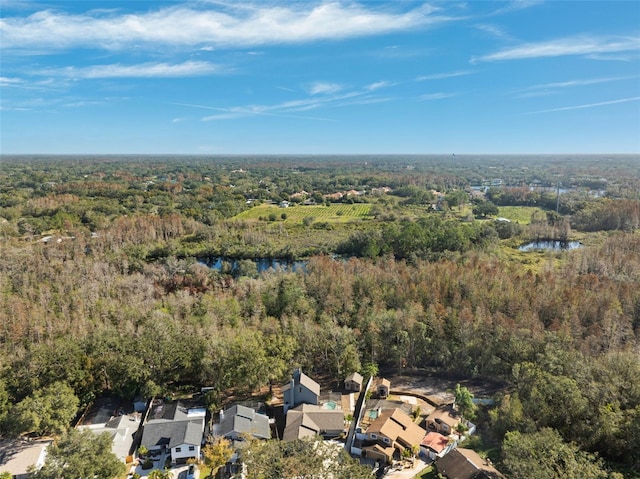
[[[2,157],[1,430],[375,365],[503,384],[508,477],[637,477],[639,228],[633,156]],[[577,472],[518,460],[551,443]]]

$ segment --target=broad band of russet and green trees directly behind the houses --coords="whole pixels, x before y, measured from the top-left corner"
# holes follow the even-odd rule
[[[131,398],[182,386],[212,386],[222,402],[230,388],[283,382],[293,365],[336,381],[367,363],[435,367],[512,385],[496,431],[551,427],[639,464],[637,234],[539,272],[478,251],[431,262],[317,257],[304,272],[237,280],[175,257],[132,268],[106,239],[2,243],[0,253],[5,420],[65,386],[81,404],[105,390]],[[23,419],[12,430],[39,427]]]

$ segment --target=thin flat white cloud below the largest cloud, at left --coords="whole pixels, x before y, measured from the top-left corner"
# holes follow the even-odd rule
[[[40,75],[52,75],[73,79],[96,78],[152,78],[152,77],[188,77],[218,73],[220,68],[208,62],[188,61],[178,64],[139,63],[136,65],[93,65],[88,67],[65,67],[34,72]]]

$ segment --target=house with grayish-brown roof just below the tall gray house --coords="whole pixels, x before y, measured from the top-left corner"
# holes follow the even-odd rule
[[[313,404],[301,404],[289,409],[282,439],[294,441],[303,437],[340,436],[345,431],[344,414],[340,410],[324,409]]]

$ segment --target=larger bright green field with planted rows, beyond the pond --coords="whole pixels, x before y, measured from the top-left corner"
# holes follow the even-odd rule
[[[301,223],[305,218],[313,218],[313,221],[326,221],[330,223],[344,223],[356,218],[366,218],[369,216],[371,205],[369,203],[355,204],[334,204],[330,206],[289,206],[280,208],[275,205],[258,205],[243,211],[233,217],[237,220],[269,220],[270,215],[276,216],[276,221],[285,223]],[[282,219],[282,215],[286,219]]]

